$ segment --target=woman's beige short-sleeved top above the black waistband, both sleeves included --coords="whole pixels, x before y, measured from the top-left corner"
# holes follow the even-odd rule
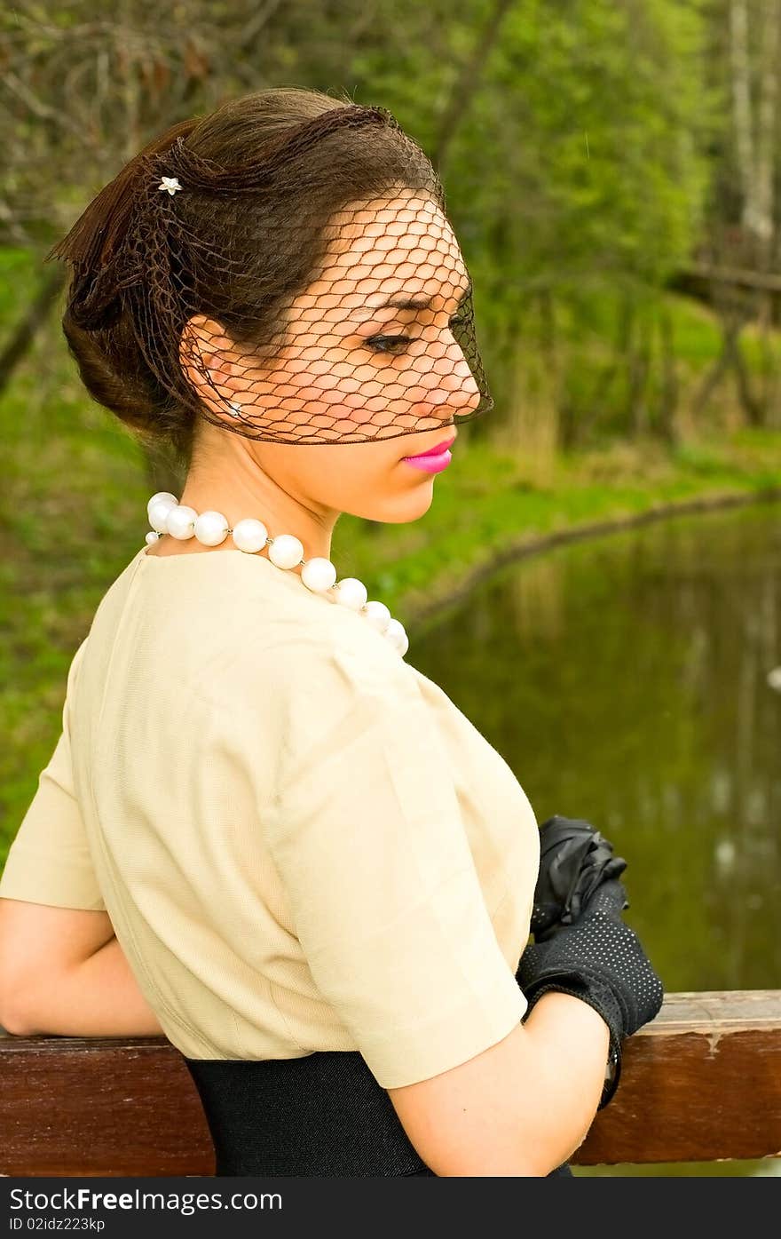
[[[521,1020],[538,860],[507,763],[361,616],[259,555],[142,548],[0,896],[105,908],[187,1057],[359,1049],[395,1088]]]

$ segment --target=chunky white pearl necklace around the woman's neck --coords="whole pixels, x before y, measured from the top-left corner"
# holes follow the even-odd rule
[[[319,593],[330,602],[337,602],[350,611],[356,611],[385,637],[401,657],[410,648],[410,642],[402,623],[394,620],[384,602],[368,602],[368,590],[355,576],[345,576],[337,581],[337,570],[329,559],[316,556],[303,559],[303,543],[292,534],[269,536],[262,520],[246,517],[231,529],[222,512],[196,512],[194,508],[181,504],[170,491],[158,491],[146,504],[152,529],[146,535],[146,544],[158,541],[163,534],[171,534],[179,541],[196,536],[203,546],[219,546],[228,534],[233,536],[238,550],[255,555],[269,548],[269,559],[280,569],[293,569],[301,565],[301,580],[313,593]]]

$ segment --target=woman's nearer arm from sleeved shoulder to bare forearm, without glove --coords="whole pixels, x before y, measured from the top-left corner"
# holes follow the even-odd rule
[[[608,1025],[562,994],[521,1022],[417,684],[390,660],[355,675],[264,818],[312,978],[434,1173],[547,1175],[597,1113]]]

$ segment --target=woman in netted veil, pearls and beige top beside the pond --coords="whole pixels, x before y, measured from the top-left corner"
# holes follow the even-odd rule
[[[71,1001],[115,976],[93,1032],[153,1012],[220,1175],[567,1173],[661,985],[623,890],[597,939],[524,950],[524,790],[330,563],[342,512],[422,517],[491,406],[433,169],[384,109],[266,90],[150,144],[53,254],[87,389],[187,478],[73,658],[0,895],[108,914]]]

